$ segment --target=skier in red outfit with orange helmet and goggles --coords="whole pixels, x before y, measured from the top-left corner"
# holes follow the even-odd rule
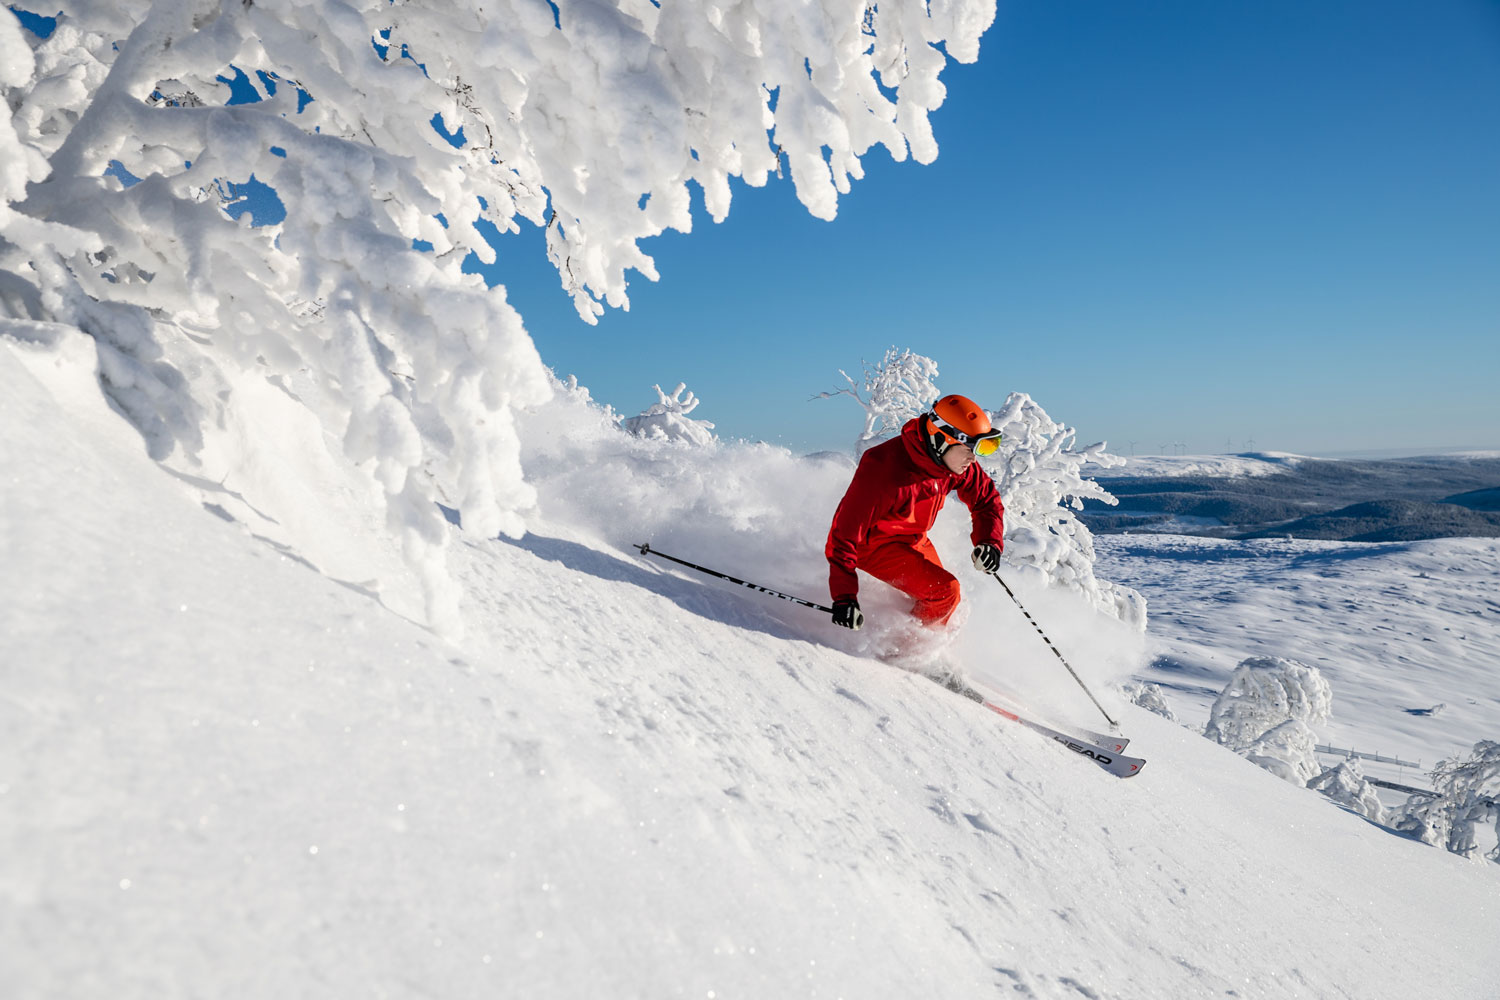
[[[828,531],[828,591],[834,624],[861,628],[860,579],[864,570],[909,594],[912,615],[942,627],[958,607],[958,580],[944,568],[927,538],[950,490],[969,507],[972,559],[981,573],[1000,568],[1005,507],[994,481],[974,460],[994,454],[1000,432],[964,396],[944,396],[914,417],[902,435],[864,453]]]

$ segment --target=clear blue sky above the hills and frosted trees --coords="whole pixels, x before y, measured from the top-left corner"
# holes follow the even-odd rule
[[[808,397],[894,345],[1122,454],[1500,448],[1500,3],[1002,0],[944,81],[936,163],[872,150],[831,223],[735,184],[628,313],[531,228],[490,279],[560,375],[726,438],[848,447]]]

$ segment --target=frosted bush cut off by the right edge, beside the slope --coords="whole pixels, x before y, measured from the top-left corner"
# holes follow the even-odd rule
[[[1464,858],[1479,856],[1479,829],[1496,822],[1496,847],[1485,855],[1500,862],[1500,742],[1482,739],[1466,759],[1432,768],[1436,796],[1412,796],[1395,828],[1425,844],[1443,846]]]

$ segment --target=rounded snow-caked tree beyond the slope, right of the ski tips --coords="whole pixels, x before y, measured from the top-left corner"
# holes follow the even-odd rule
[[[1242,660],[1209,709],[1203,735],[1272,774],[1306,784],[1322,772],[1310,723],[1324,721],[1334,691],[1317,667],[1284,657]]]

